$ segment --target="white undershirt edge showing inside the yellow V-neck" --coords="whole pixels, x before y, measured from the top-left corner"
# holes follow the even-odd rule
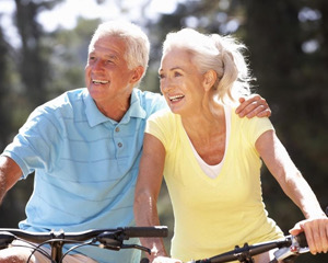
[[[198,155],[198,152],[196,151],[196,149],[194,148],[194,145],[191,144],[190,139],[189,142],[191,145],[191,149],[194,151],[194,155],[201,168],[201,170],[209,176],[209,178],[216,178],[218,174],[220,173],[223,162],[224,162],[224,158],[225,158],[225,152],[227,149],[227,142],[229,142],[229,138],[230,138],[230,134],[231,134],[231,107],[229,106],[224,106],[224,115],[225,115],[225,127],[226,127],[226,133],[225,133],[225,147],[224,147],[224,155],[223,155],[223,159],[220,163],[215,164],[215,165],[210,165],[208,163],[206,163],[201,157]],[[189,137],[188,137],[189,138]]]

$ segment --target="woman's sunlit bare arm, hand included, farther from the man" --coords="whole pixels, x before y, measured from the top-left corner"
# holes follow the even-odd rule
[[[327,252],[328,218],[276,133],[273,130],[263,133],[255,146],[283,192],[304,214],[306,220],[296,224],[296,226],[305,231],[311,252],[313,254]],[[292,231],[294,231],[293,235],[297,233],[295,228]]]

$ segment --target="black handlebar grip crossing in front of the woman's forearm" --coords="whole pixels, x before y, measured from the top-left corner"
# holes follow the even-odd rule
[[[126,227],[124,232],[130,238],[166,238],[168,230],[166,226],[156,227]]]

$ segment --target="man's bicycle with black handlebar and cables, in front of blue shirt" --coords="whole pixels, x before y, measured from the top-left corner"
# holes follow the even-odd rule
[[[124,241],[130,238],[164,238],[167,237],[167,233],[168,230],[165,226],[91,229],[80,232],[31,232],[14,228],[0,228],[0,250],[12,245],[14,240],[22,240],[34,249],[27,263],[36,251],[48,258],[51,263],[61,263],[68,253],[83,245],[96,245],[115,251],[120,249],[139,249],[150,254],[151,250],[149,248],[139,244],[125,244]],[[63,253],[63,245],[69,243],[75,245]],[[50,255],[42,248],[46,244],[50,244]],[[141,262],[148,262],[148,260],[142,259]]]

